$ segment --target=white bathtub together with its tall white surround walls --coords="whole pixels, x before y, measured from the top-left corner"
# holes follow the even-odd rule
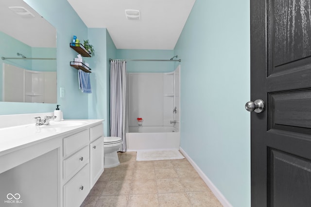
[[[180,65],[169,73],[129,73],[127,150],[178,149]],[[137,118],[143,119],[139,126]]]

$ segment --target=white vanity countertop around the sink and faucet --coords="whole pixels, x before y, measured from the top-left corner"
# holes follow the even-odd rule
[[[83,122],[82,125],[72,127],[45,127],[35,124],[19,125],[0,128],[0,155],[20,148],[43,142],[47,139],[72,133],[74,130],[83,130],[102,123],[103,119],[64,120],[64,122]],[[61,123],[62,121],[58,122]],[[53,121],[50,122],[51,125]]]

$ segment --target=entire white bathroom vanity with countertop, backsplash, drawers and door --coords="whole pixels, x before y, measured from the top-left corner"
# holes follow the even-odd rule
[[[104,172],[104,120],[40,115],[0,116],[0,206],[79,207]]]

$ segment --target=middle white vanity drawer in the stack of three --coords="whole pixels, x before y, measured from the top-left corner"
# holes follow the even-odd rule
[[[89,161],[89,147],[86,146],[76,154],[63,161],[64,180],[76,174]]]

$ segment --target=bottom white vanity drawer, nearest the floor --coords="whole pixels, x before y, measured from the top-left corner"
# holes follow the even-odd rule
[[[64,207],[79,207],[89,192],[89,164],[64,185]]]

